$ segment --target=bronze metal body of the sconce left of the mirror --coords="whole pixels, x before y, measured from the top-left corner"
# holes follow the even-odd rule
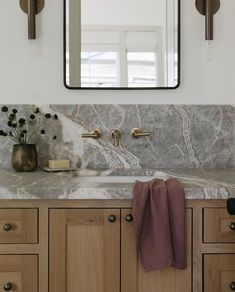
[[[44,7],[45,0],[20,0],[21,9],[28,14],[28,39],[36,39],[36,14]]]

